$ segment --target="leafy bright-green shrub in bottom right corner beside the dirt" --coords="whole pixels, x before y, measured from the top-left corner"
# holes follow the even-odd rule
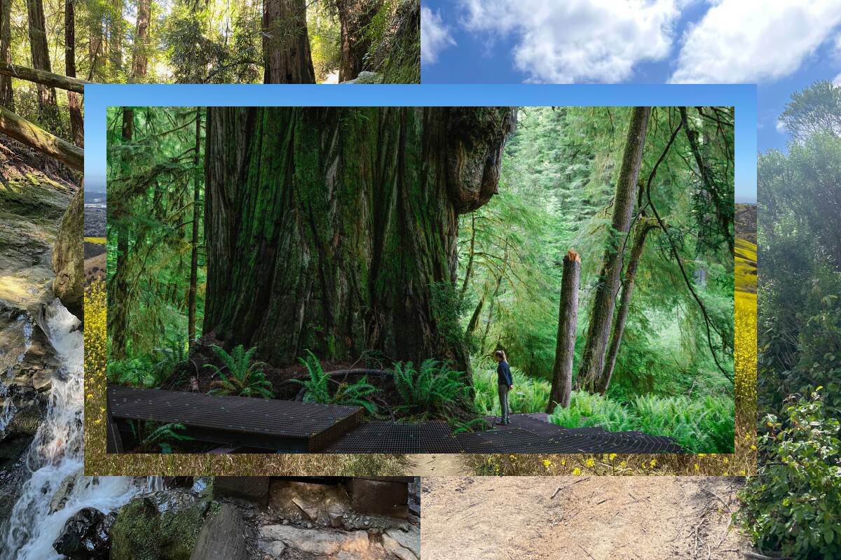
[[[734,514],[756,547],[785,557],[841,557],[841,440],[820,390],[787,407],[785,422],[766,416],[766,460]]]

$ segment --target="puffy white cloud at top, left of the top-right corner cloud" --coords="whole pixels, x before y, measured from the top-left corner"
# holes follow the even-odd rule
[[[680,6],[691,0],[460,0],[463,25],[512,36],[529,81],[626,81],[634,65],[671,50]]]

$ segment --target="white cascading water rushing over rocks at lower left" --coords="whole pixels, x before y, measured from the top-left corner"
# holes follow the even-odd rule
[[[71,516],[86,507],[108,513],[160,484],[159,479],[82,476],[84,339],[79,320],[56,299],[46,306],[41,326],[61,369],[29,447],[29,479],[0,531],[0,560],[62,558],[52,543]]]

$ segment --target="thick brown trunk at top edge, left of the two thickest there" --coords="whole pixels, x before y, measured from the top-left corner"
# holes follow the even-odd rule
[[[263,0],[263,81],[314,84],[304,0]]]

